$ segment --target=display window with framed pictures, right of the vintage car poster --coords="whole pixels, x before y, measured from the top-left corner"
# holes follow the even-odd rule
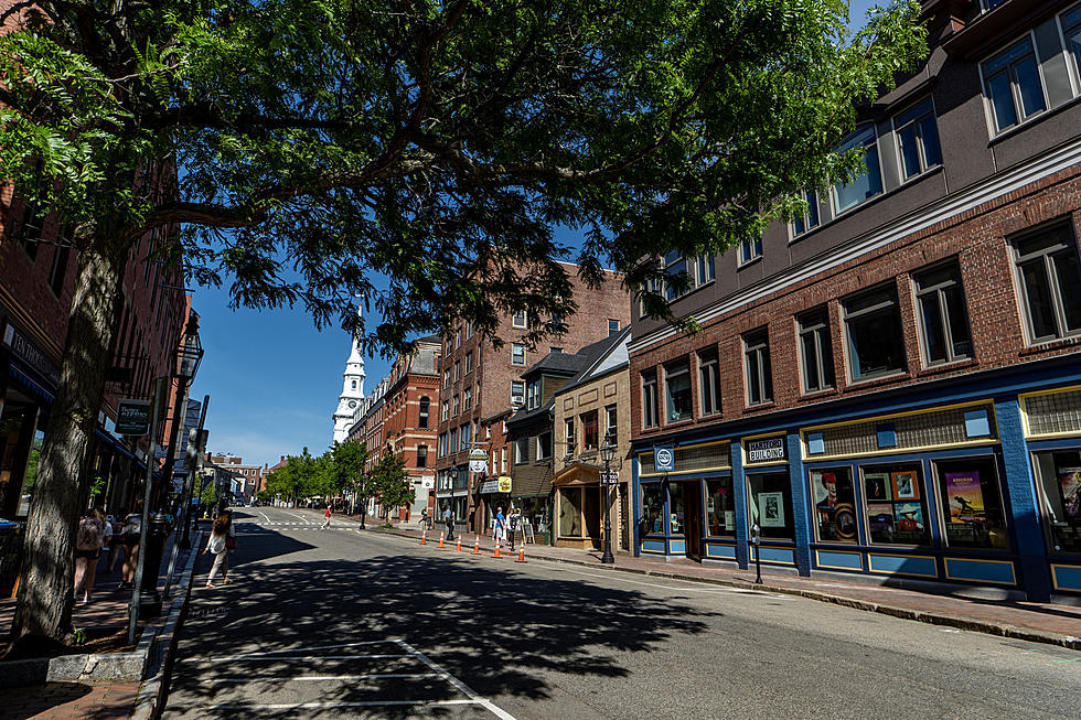
[[[918,463],[860,469],[867,534],[873,544],[930,545],[927,497]]]

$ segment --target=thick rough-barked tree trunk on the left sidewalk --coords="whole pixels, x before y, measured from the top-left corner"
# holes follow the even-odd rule
[[[60,386],[49,413],[30,503],[12,634],[67,642],[72,632],[74,540],[86,502],[90,439],[105,388],[127,257],[115,238],[78,254]]]

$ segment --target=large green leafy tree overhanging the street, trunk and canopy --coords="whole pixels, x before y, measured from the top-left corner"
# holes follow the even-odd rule
[[[687,277],[655,260],[757,237],[805,211],[801,189],[850,180],[859,151],[835,148],[854,108],[927,52],[914,0],[855,33],[845,0],[4,7],[0,178],[77,251],[13,624],[57,640],[121,278],[149,233],[171,238],[152,259],[228,281],[234,305],[301,304],[385,353],[521,311],[527,343],[557,332],[576,308],[558,226],[585,237],[585,281],[613,268],[676,322],[651,281]]]

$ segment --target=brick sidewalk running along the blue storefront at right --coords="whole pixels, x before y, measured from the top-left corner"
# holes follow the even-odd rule
[[[409,537],[419,542],[420,530],[405,527],[394,530],[373,530]],[[467,542],[468,538],[468,542]],[[462,536],[462,554],[472,554],[473,535]],[[432,552],[454,552],[453,545],[442,550],[437,549],[439,527],[428,533],[428,545]],[[481,536],[482,555],[478,561],[497,562],[491,558],[491,537]],[[504,550],[504,561],[512,561],[517,555]],[[762,590],[801,595],[822,602],[884,613],[907,620],[949,625],[1004,637],[1015,637],[1039,643],[1061,645],[1072,649],[1081,649],[1081,608],[1057,603],[1010,602],[974,597],[949,594],[966,590],[956,585],[938,585],[948,594],[921,592],[888,588],[867,582],[846,582],[836,574],[823,578],[801,578],[794,574],[771,572],[771,568],[762,568],[762,584],[754,583],[754,568],[748,570],[724,566],[703,566],[691,560],[668,561],[651,558],[635,558],[629,555],[617,555],[614,566],[600,562],[599,550],[576,550],[571,548],[554,548],[544,545],[527,545],[526,561],[544,560],[548,562],[568,562],[591,567],[596,570],[633,572],[638,574],[706,582],[747,590]],[[928,584],[930,588],[930,583]]]

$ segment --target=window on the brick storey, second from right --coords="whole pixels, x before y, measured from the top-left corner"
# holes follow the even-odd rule
[[[951,262],[913,276],[923,362],[952,363],[972,357],[972,334],[965,310],[961,270]]]

